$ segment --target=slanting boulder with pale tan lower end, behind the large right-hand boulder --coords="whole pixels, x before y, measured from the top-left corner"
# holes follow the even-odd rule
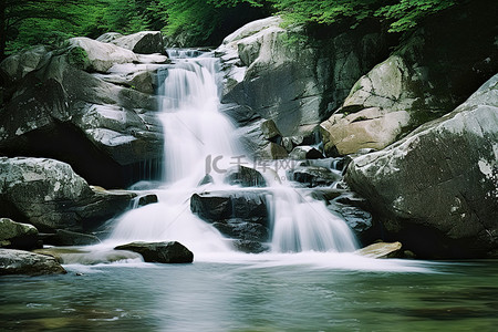
[[[487,6],[490,1],[474,1],[426,20],[362,76],[321,124],[326,155],[382,149],[449,113],[494,75],[496,19]],[[458,42],[448,35],[458,35]]]

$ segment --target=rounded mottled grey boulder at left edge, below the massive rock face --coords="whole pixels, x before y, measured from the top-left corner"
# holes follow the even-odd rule
[[[70,165],[0,157],[0,210],[40,231],[95,228],[123,212],[135,195],[93,190]]]

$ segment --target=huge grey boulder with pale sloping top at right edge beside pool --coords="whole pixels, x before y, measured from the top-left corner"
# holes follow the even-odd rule
[[[498,75],[464,104],[384,151],[353,159],[351,188],[387,239],[425,258],[498,250]]]

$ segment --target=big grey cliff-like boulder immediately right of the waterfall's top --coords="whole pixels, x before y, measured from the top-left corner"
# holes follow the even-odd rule
[[[382,59],[386,42],[377,27],[366,24],[331,34],[283,29],[279,17],[258,20],[224,40],[217,49],[224,71],[221,102],[230,104],[229,115],[245,126],[248,121],[272,120],[282,136],[305,136]],[[240,116],[237,106],[251,115]],[[247,132],[255,129],[251,125]],[[261,145],[261,135],[240,135],[253,136],[255,145]]]

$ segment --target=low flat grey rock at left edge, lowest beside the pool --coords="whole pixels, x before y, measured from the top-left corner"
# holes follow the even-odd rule
[[[0,249],[0,276],[61,274],[63,267],[52,257],[14,249]]]

